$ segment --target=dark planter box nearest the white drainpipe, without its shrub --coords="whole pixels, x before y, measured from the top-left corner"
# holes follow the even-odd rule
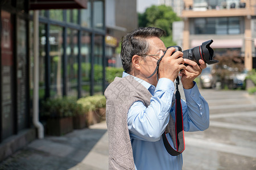
[[[46,123],[46,134],[61,136],[73,131],[73,118],[49,118]]]

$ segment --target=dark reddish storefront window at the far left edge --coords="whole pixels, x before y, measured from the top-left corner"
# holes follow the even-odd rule
[[[10,12],[1,11],[1,122],[2,139],[13,134],[14,130],[14,41],[13,17]],[[15,84],[16,87],[16,84]]]

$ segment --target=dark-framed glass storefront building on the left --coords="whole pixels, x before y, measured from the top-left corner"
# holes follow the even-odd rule
[[[104,0],[0,3],[1,161],[36,138],[34,104],[103,94],[106,27]]]

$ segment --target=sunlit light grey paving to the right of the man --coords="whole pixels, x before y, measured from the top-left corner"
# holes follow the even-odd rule
[[[256,169],[256,97],[200,91],[209,103],[210,127],[185,133],[183,169]]]

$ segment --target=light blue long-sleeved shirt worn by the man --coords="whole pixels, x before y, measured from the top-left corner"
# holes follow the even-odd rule
[[[123,72],[123,77],[129,74]],[[127,124],[130,131],[135,169],[182,169],[182,154],[171,156],[163,145],[162,134],[168,124],[169,116],[175,118],[175,105],[172,105],[174,82],[161,78],[157,86],[134,77],[152,94],[150,105],[146,108],[136,101],[129,109]],[[184,131],[205,130],[209,127],[209,106],[195,86],[184,89],[185,99],[181,100]],[[170,134],[167,139],[173,147]]]

